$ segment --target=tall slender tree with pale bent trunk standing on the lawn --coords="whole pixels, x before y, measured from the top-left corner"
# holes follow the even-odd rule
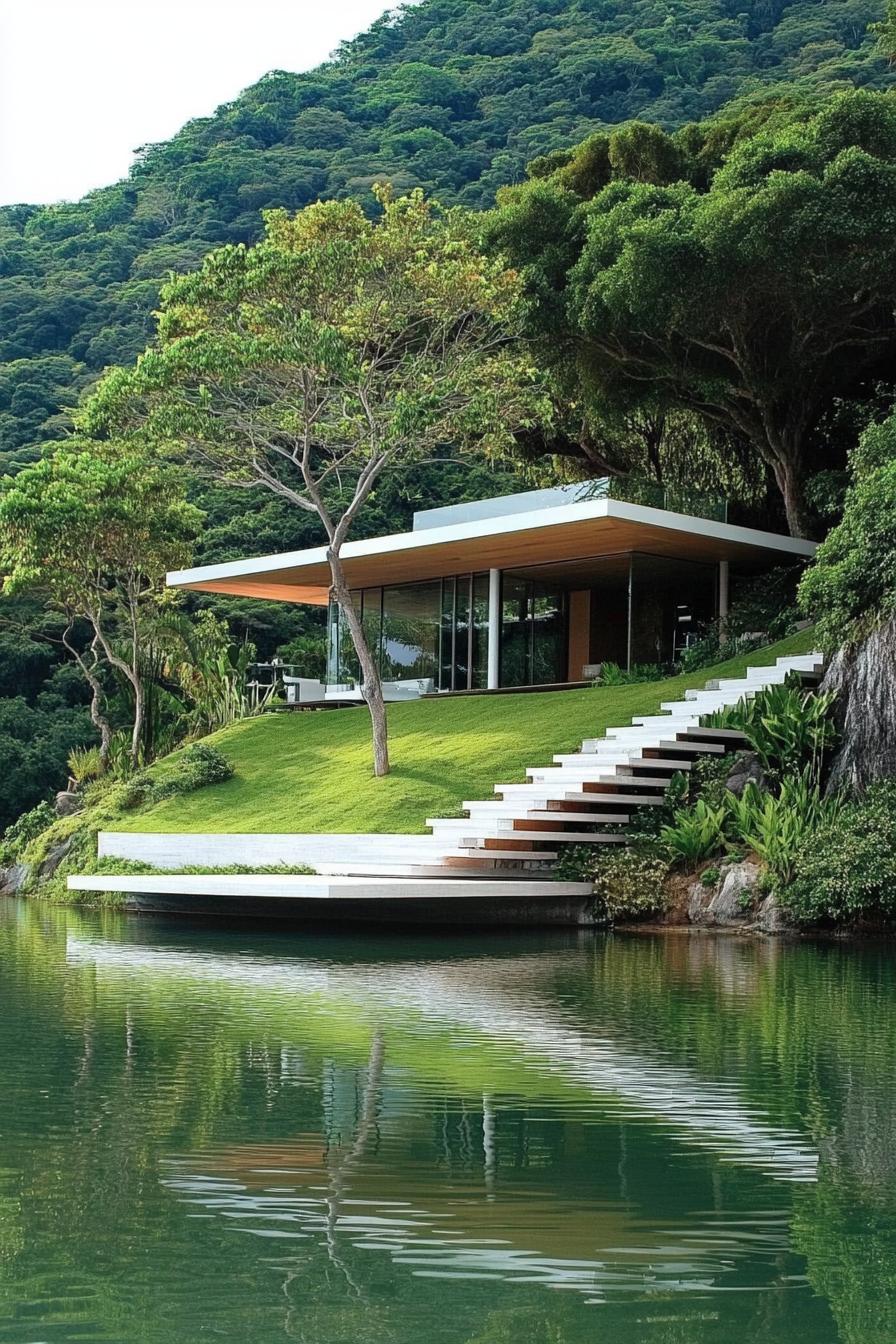
[[[355,202],[270,212],[261,243],[172,280],[157,340],[105,376],[79,423],[317,516],[384,775],[383,688],[345,542],[384,473],[446,445],[506,452],[549,402],[521,343],[519,280],[485,255],[477,218],[422,192],[377,202],[376,218]]]

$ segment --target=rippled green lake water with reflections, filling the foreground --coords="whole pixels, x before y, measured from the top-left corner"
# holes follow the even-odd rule
[[[0,902],[0,1341],[893,1344],[895,989]]]

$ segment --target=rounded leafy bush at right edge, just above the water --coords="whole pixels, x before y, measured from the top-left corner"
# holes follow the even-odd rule
[[[779,895],[805,923],[896,917],[896,782],[872,785],[798,845]]]

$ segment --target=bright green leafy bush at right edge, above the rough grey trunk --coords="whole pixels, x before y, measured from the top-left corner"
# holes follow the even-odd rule
[[[896,613],[896,415],[865,430],[852,469],[842,520],[799,586],[827,649]]]

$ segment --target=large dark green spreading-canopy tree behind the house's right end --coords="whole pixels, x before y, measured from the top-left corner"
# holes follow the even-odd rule
[[[896,352],[896,99],[621,137],[536,165],[496,214],[536,347],[586,433],[600,403],[692,413],[751,445],[810,535],[819,423]]]

